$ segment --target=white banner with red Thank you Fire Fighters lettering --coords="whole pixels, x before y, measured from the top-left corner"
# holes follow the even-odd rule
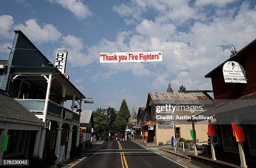
[[[161,51],[151,52],[101,52],[100,63],[156,62],[162,61]]]

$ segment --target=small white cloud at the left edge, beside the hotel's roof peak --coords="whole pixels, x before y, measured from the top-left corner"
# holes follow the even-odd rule
[[[0,37],[12,39],[14,36],[13,32],[10,32],[13,27],[13,17],[10,15],[0,16]]]

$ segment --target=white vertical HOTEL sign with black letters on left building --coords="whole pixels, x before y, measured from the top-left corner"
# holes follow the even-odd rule
[[[56,51],[54,67],[64,74],[66,70],[67,51]]]

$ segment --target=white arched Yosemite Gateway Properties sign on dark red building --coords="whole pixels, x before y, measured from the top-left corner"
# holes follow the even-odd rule
[[[226,62],[223,65],[223,77],[226,83],[247,83],[246,71],[238,62]]]

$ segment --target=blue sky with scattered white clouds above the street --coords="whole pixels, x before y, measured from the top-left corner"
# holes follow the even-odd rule
[[[212,89],[205,74],[256,38],[254,0],[2,0],[0,48],[21,30],[38,49],[163,51],[163,62],[101,63],[99,52],[69,52],[69,80],[94,104],[83,110],[146,106],[148,91]],[[173,50],[175,49],[175,50]],[[166,51],[167,50],[167,51]],[[41,50],[54,63],[55,52]],[[0,49],[0,59],[8,50]],[[92,66],[93,65],[93,66]],[[77,70],[79,69],[79,70]],[[75,71],[72,71],[75,70]],[[69,72],[72,71],[72,72]],[[70,102],[67,102],[69,104]]]

